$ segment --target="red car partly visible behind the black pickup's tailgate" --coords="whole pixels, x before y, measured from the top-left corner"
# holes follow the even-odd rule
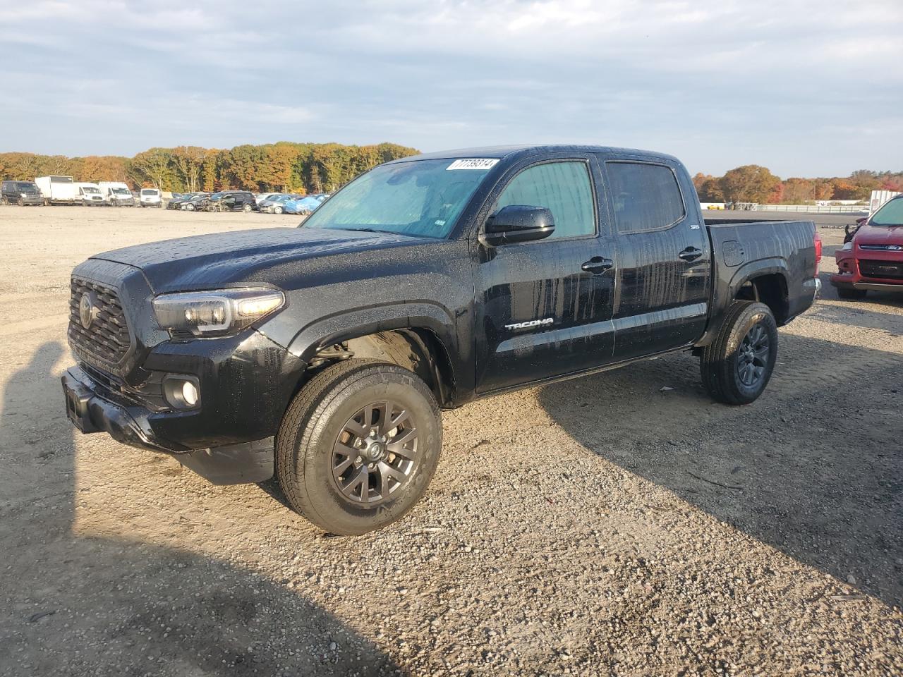
[[[861,299],[870,289],[903,292],[903,195],[866,219],[834,258],[831,283],[842,299]]]

